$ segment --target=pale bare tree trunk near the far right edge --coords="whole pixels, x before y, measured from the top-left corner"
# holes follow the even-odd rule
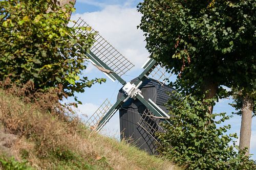
[[[244,98],[242,102],[242,121],[240,129],[240,143],[239,150],[247,148],[246,155],[250,151],[251,139],[251,120],[252,120],[253,100],[251,98]]]

